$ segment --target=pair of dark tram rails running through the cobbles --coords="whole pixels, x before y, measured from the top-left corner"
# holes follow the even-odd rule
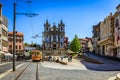
[[[19,78],[20,77],[22,77],[22,76],[24,76],[24,75],[22,75],[24,72],[25,72],[25,70],[30,66],[30,64],[31,64],[32,62],[30,62],[19,74],[18,74],[18,76],[15,78],[15,80],[19,80]],[[38,75],[38,62],[36,63],[36,71],[35,71],[36,73],[35,73],[35,80],[39,80],[39,75]],[[24,79],[23,79],[24,80]]]

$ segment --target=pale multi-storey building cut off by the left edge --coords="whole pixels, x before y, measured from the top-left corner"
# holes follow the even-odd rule
[[[2,15],[2,4],[0,3],[0,51],[8,52],[8,20]]]

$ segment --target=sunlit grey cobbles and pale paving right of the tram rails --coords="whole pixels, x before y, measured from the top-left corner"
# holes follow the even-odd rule
[[[47,62],[46,62],[47,63]],[[46,63],[42,63],[45,66]],[[47,67],[39,67],[42,68],[39,72],[40,80],[107,80],[111,76],[115,76],[120,71],[94,71],[88,70],[85,67],[78,68],[74,67],[75,65],[65,65],[56,64],[56,63],[47,63]],[[50,65],[53,65],[51,68]],[[55,66],[54,66],[55,65]],[[58,67],[57,67],[58,65]],[[65,67],[64,67],[65,66]],[[49,68],[48,68],[49,67]],[[74,69],[73,69],[74,67]],[[59,69],[55,69],[59,68]],[[66,69],[65,69],[66,68]]]

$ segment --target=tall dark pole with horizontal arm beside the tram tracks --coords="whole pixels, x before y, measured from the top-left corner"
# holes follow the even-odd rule
[[[35,13],[16,13],[16,3],[14,2],[14,15],[13,15],[13,71],[15,71],[15,54],[16,54],[16,14],[26,15],[28,17],[34,17],[38,14]]]

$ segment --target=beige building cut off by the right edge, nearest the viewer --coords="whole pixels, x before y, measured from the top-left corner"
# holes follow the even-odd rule
[[[120,4],[116,7],[117,11],[114,13],[114,50],[115,56],[120,58]]]

